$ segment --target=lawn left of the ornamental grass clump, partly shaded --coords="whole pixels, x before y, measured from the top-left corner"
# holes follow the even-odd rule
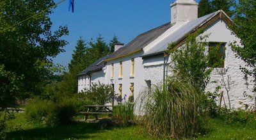
[[[141,133],[139,126],[101,129],[97,123],[76,121],[72,125],[44,127],[26,122],[25,114],[8,121],[9,139],[153,139]]]

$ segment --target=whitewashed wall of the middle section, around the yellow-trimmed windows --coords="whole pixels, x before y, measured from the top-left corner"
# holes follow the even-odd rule
[[[144,87],[144,71],[142,65],[142,58],[140,58],[142,52],[127,56],[125,58],[115,59],[108,61],[106,64],[106,83],[114,84],[115,93],[119,94],[119,84],[122,84],[122,98],[127,95],[127,98],[131,95],[131,82],[134,82],[134,100],[139,96],[140,92],[143,91]],[[131,76],[131,58],[134,58],[134,77]],[[122,75],[119,77],[119,62],[122,61]],[[111,63],[114,63],[114,77],[111,79]]]

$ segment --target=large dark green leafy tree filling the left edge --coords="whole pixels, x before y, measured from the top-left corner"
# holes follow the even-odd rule
[[[0,97],[5,98],[5,102],[13,104],[18,98],[42,93],[54,75],[56,67],[50,58],[64,51],[67,42],[60,38],[68,35],[67,27],[51,29],[49,15],[54,5],[52,0],[1,1],[0,65],[4,65],[4,71],[10,75],[9,80],[1,84],[10,86],[8,90],[1,90]],[[19,94],[15,93],[18,89]]]

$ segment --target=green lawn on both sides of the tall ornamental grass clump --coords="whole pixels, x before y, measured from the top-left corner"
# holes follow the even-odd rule
[[[25,114],[15,114],[8,121],[10,139],[156,139],[141,131],[143,126],[112,127],[100,129],[97,123],[77,121],[63,127],[44,127],[38,123],[27,122]],[[220,118],[209,123],[211,131],[197,139],[256,139],[256,122],[246,124],[227,124]]]

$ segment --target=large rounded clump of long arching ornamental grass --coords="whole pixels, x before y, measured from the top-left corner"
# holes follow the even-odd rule
[[[170,77],[143,95],[142,121],[148,134],[157,137],[193,137],[204,126],[204,94],[186,80]]]

